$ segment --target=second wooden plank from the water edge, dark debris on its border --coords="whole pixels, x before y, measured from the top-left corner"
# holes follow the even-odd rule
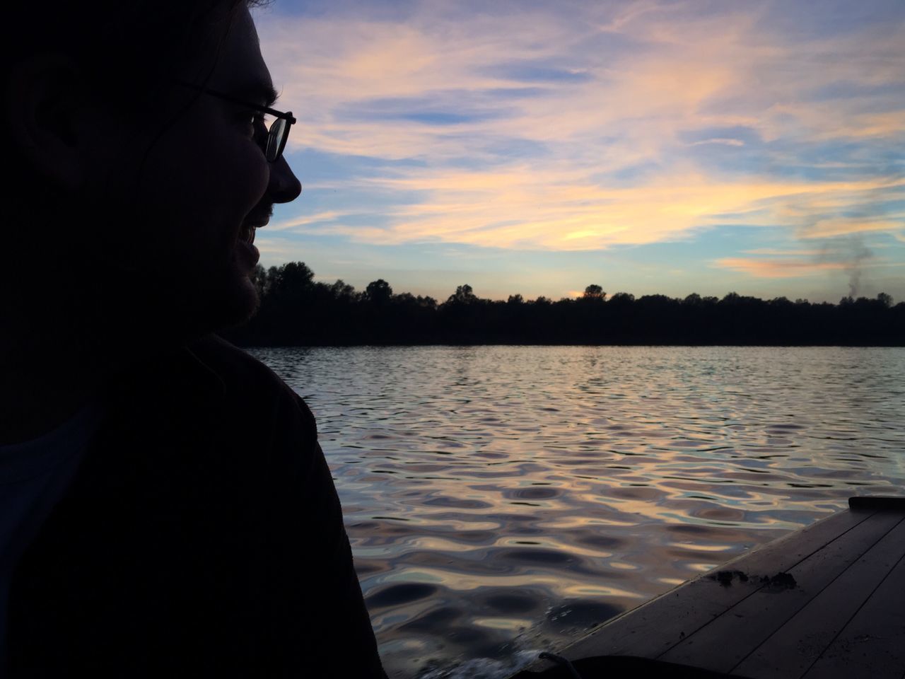
[[[659,656],[680,665],[729,673],[779,626],[795,615],[862,554],[901,521],[898,512],[877,512],[856,528],[814,552],[792,568],[794,588],[759,588],[708,625]],[[767,575],[751,571],[752,575]]]

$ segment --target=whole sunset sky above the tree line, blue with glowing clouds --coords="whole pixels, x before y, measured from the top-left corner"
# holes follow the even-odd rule
[[[902,0],[276,0],[262,264],[445,300],[905,301]]]

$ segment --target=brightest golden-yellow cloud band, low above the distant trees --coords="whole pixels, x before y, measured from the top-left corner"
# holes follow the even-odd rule
[[[769,177],[718,181],[676,168],[642,186],[601,186],[566,166],[507,171],[412,170],[376,178],[386,190],[423,194],[397,206],[378,242],[440,241],[544,250],[599,250],[614,244],[678,240],[726,224],[805,224],[801,206],[843,193],[874,200],[887,182],[783,182]],[[902,180],[905,182],[905,180]],[[818,223],[819,224],[819,223]],[[889,228],[900,223],[891,220]],[[853,230],[862,229],[853,222]],[[837,233],[849,233],[840,223]],[[373,232],[372,232],[373,234]]]

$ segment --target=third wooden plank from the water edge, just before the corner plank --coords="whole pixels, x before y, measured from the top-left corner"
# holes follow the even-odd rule
[[[805,674],[903,556],[905,521],[900,521],[795,617],[732,668],[732,673],[752,679]]]

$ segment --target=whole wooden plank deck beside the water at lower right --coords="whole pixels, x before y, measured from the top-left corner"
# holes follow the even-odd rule
[[[848,510],[597,627],[561,652],[575,671],[538,660],[515,679],[596,679],[635,667],[655,676],[902,679],[903,557],[905,498],[852,498]]]

